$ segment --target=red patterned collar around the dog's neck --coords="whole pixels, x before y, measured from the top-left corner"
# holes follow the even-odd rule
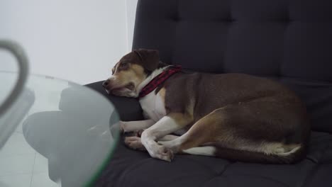
[[[166,79],[170,78],[173,74],[181,71],[181,66],[170,66],[166,71],[158,74],[157,77],[153,78],[143,89],[140,91],[138,98],[143,98],[144,96],[150,94],[151,91],[155,90],[157,86],[162,84]]]

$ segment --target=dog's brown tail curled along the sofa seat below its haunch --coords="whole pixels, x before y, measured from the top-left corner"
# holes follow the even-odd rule
[[[306,147],[299,147],[296,152],[285,156],[277,154],[265,154],[262,152],[248,152],[245,150],[229,149],[213,145],[216,147],[215,156],[223,159],[240,162],[254,162],[261,164],[294,164],[306,155]]]

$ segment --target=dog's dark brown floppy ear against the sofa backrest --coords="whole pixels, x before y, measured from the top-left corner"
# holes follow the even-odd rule
[[[159,52],[157,50],[139,49],[139,50],[134,50],[133,52],[135,52],[136,55],[138,55],[145,69],[147,69],[150,72],[157,69],[159,64]]]

